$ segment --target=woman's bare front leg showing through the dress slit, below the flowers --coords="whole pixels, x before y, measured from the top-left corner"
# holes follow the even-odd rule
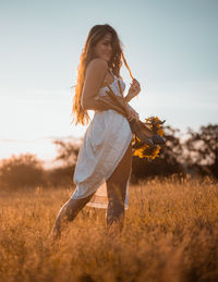
[[[124,222],[124,200],[126,184],[132,170],[132,143],[130,143],[122,160],[107,180],[108,210],[107,226],[119,229],[123,228]]]

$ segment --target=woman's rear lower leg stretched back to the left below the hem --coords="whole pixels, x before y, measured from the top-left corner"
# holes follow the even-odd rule
[[[82,199],[69,199],[60,209],[58,217],[56,219],[51,235],[53,237],[60,237],[61,229],[63,224],[72,221],[78,213],[78,211],[90,200],[95,193],[90,194],[88,197]]]

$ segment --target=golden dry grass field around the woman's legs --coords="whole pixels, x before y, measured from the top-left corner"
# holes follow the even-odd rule
[[[0,281],[218,281],[218,184],[150,181],[130,187],[122,234],[85,207],[48,241],[72,189],[0,192]]]

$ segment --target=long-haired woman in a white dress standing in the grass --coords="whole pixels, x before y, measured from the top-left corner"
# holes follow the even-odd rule
[[[97,99],[101,96],[112,102],[106,94],[106,82],[119,99],[123,99],[118,87],[120,81],[122,90],[125,88],[120,76],[121,56],[129,69],[117,32],[108,24],[93,26],[77,69],[73,101],[75,125],[84,125],[89,121],[87,110],[94,110],[95,115],[78,152],[74,171],[76,188],[59,211],[52,229],[53,235],[60,236],[62,223],[72,221],[104,182],[108,194],[107,226],[114,225],[122,230],[124,200],[132,171],[132,132],[129,121],[138,119],[137,112],[128,102],[140,93],[140,83],[133,79],[124,97],[128,118]]]

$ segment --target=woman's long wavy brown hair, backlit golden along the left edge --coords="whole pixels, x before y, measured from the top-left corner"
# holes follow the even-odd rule
[[[83,85],[85,79],[85,73],[86,73],[88,63],[95,58],[94,48],[96,44],[101,38],[104,38],[108,33],[110,33],[112,36],[112,56],[110,61],[108,62],[108,66],[111,69],[112,73],[116,76],[122,79],[122,77],[120,76],[120,68],[122,66],[122,61],[121,61],[121,57],[122,57],[123,62],[130,72],[130,76],[133,78],[130,68],[124,58],[123,50],[121,48],[122,42],[119,39],[114,28],[109,24],[94,25],[90,28],[87,39],[85,41],[85,46],[82,49],[82,54],[80,57],[80,64],[77,66],[77,79],[75,85],[75,95],[73,98],[73,108],[72,108],[72,114],[73,114],[72,123],[75,122],[75,125],[77,123],[85,125],[89,121],[89,115],[87,111],[85,111],[81,106],[81,96],[82,96],[82,90],[83,90]]]

